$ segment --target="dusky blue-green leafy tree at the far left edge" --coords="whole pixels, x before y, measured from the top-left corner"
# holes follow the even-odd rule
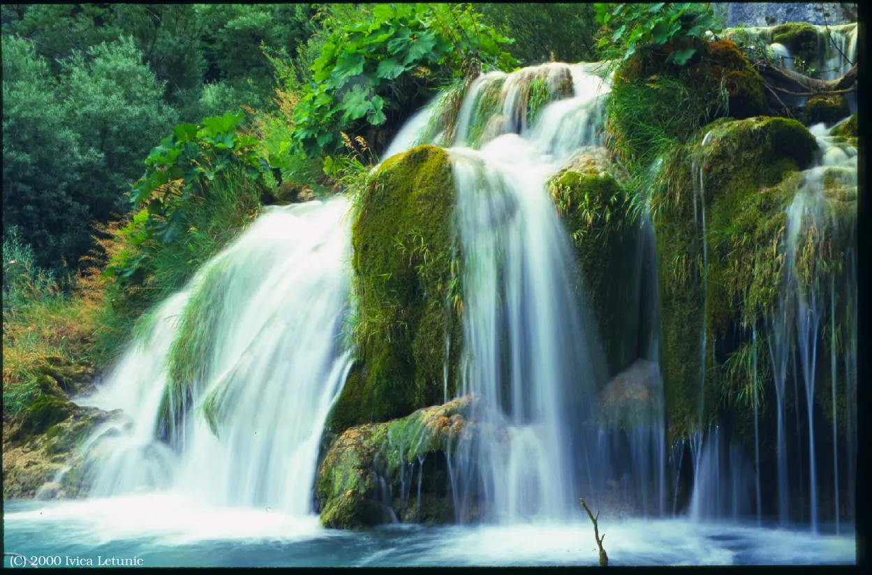
[[[90,246],[83,174],[98,173],[102,162],[67,124],[57,90],[33,43],[4,35],[3,229],[17,226],[37,267],[51,270]]]

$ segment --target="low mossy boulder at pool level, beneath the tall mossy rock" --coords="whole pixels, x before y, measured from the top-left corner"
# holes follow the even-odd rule
[[[392,510],[389,505],[395,503],[382,500],[379,478],[399,493],[401,466],[437,452],[444,454],[451,444],[468,437],[471,430],[466,417],[473,401],[463,397],[391,422],[345,430],[330,445],[318,469],[315,495],[321,505],[321,523],[330,528],[363,529],[390,522],[392,511],[402,517],[399,505]],[[434,495],[432,490],[422,491],[422,500],[428,502],[422,519],[453,517],[445,509],[445,499]]]

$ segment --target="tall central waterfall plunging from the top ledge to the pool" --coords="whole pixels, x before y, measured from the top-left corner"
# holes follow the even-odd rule
[[[565,64],[542,68],[548,75],[567,72]],[[586,78],[581,67],[574,71]],[[528,126],[518,101],[523,74],[529,71],[476,80],[461,107],[457,141],[465,141],[480,113],[480,93],[492,81],[502,82],[502,131],[514,126],[521,133],[486,133],[479,151],[449,149],[464,253],[460,395],[480,396],[477,419],[493,430],[474,447],[460,446],[455,457],[460,468],[477,462],[481,495],[506,523],[576,515],[577,472],[593,462],[585,443],[574,441],[578,421],[596,401],[600,361],[596,328],[584,320],[583,297],[573,290],[569,238],[545,184],[580,146],[597,143],[590,124],[608,88],[601,78],[576,85],[574,98],[546,106]]]

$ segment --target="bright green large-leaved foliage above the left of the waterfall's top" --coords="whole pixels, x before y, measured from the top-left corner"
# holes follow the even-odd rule
[[[367,17],[330,26],[294,111],[294,136],[310,155],[335,151],[339,132],[405,118],[460,74],[465,59],[511,67],[508,39],[469,7],[376,4]],[[371,140],[371,139],[370,139]]]

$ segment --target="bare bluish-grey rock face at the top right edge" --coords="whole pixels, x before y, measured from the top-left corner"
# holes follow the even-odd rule
[[[848,3],[856,14],[856,3]],[[715,13],[726,18],[726,26],[775,26],[787,22],[808,24],[848,24],[852,22],[841,3],[722,3],[715,5]],[[827,14],[828,16],[824,16]]]

